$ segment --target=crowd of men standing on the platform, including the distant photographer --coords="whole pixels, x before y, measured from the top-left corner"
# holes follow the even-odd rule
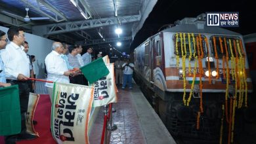
[[[8,39],[7,39],[8,35]],[[5,137],[5,143],[15,143],[23,139],[34,139],[35,135],[26,133],[26,111],[30,92],[35,90],[35,56],[26,54],[29,44],[25,41],[24,30],[20,27],[10,27],[7,34],[0,30],[0,87],[8,87],[18,84],[20,98],[20,114],[22,116],[22,130],[20,134]],[[11,41],[8,45],[7,42]],[[5,50],[3,50],[5,49]],[[93,48],[81,56],[83,48],[81,45],[68,46],[66,43],[54,42],[52,51],[45,58],[47,70],[47,81],[74,83],[88,85],[87,79],[82,75],[79,67],[92,62]],[[102,57],[98,54],[97,58]],[[120,59],[115,62],[116,83],[123,84],[125,88],[128,82],[129,89],[132,89],[131,79],[133,75],[133,63]],[[46,82],[45,86],[52,101],[53,83]],[[36,124],[34,121],[33,124]]]

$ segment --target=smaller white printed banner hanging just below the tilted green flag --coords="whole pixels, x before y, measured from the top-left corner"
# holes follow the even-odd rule
[[[110,73],[106,77],[102,77],[96,81],[92,86],[95,86],[93,96],[93,107],[100,107],[108,103],[117,102],[116,84],[114,77],[114,63],[107,63],[108,71]]]

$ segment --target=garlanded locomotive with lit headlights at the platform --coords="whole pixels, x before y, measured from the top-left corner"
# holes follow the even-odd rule
[[[200,15],[149,37],[133,54],[134,78],[151,90],[172,135],[234,141],[253,90],[242,35],[205,26]]]

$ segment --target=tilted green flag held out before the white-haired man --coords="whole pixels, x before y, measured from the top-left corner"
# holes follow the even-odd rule
[[[98,58],[97,60],[83,67],[80,67],[80,69],[90,84],[95,81],[98,81],[100,78],[110,73],[105,63],[103,62],[102,58]]]

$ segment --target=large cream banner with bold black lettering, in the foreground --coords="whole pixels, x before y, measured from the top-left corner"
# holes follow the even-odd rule
[[[57,143],[89,143],[91,86],[54,82],[51,130]]]

